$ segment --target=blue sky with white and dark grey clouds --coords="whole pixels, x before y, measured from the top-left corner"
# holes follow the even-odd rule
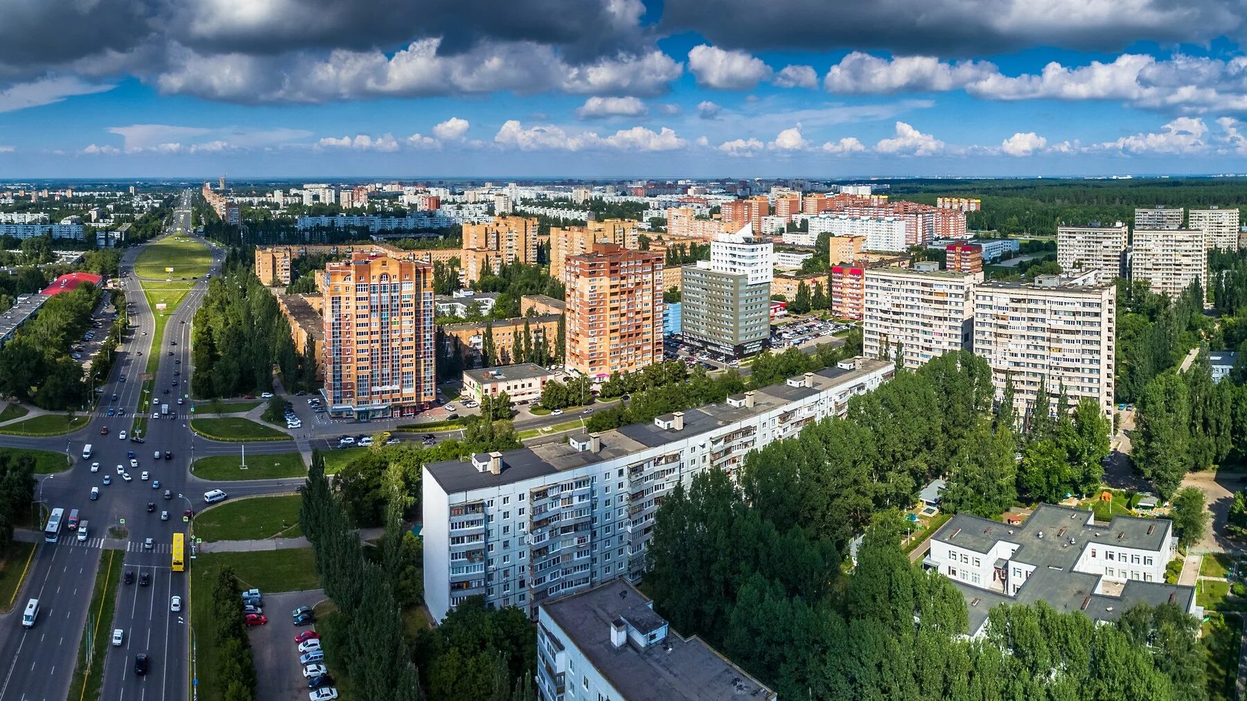
[[[1245,2],[10,0],[0,173],[1247,172]]]

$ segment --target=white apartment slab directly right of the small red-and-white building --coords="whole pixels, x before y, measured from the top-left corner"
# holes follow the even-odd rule
[[[914,269],[865,271],[862,347],[868,358],[904,354],[917,369],[944,353],[971,348],[974,287],[983,273],[939,269],[930,261]]]

